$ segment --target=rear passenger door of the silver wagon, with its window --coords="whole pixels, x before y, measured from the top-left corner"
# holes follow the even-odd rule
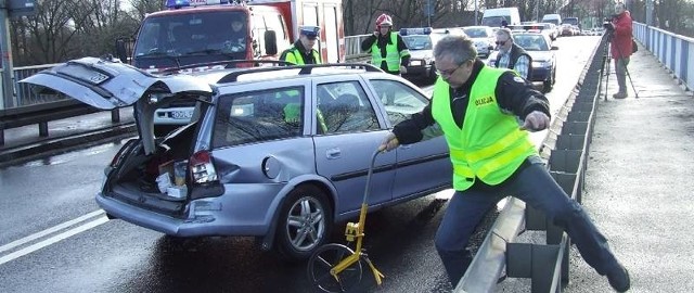
[[[316,168],[337,190],[336,214],[358,211],[372,154],[387,135],[364,85],[352,78],[314,78]],[[376,156],[369,204],[391,199],[394,153]]]

